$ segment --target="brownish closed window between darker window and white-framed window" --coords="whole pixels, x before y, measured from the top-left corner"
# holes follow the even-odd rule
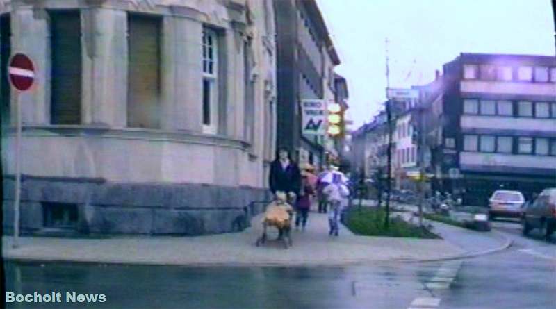
[[[160,128],[161,19],[128,15],[127,126]]]

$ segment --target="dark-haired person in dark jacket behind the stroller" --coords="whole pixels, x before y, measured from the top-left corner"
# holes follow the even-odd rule
[[[277,192],[286,193],[288,203],[295,206],[301,190],[301,172],[285,147],[278,149],[276,158],[270,165],[268,184],[272,194],[276,196]],[[281,233],[278,237],[281,237]]]

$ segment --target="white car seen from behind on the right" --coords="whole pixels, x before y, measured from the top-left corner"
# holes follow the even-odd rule
[[[489,199],[489,219],[496,217],[521,218],[525,197],[519,191],[496,190]]]

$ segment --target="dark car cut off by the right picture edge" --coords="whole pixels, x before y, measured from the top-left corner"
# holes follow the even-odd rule
[[[556,187],[545,189],[534,202],[525,208],[522,219],[523,235],[539,228],[548,239],[556,231]]]

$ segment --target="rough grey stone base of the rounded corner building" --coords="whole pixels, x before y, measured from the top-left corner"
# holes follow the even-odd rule
[[[3,181],[3,226],[13,231],[14,181]],[[243,231],[270,192],[252,187],[103,183],[25,178],[20,230],[44,227],[42,203],[74,203],[77,231],[101,234],[206,235]]]

